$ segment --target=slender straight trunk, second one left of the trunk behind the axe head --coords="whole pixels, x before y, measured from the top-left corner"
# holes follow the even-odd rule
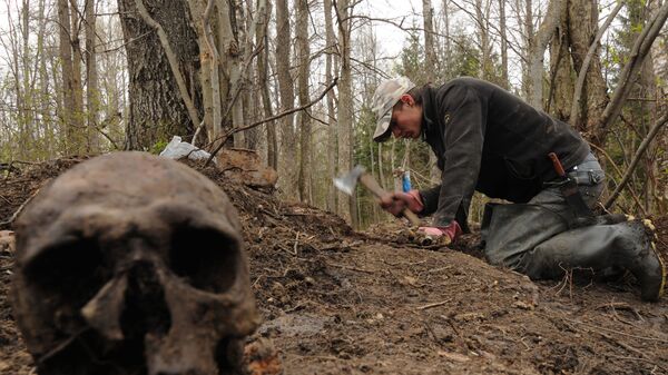
[[[308,103],[308,75],[311,68],[311,48],[308,46],[308,1],[297,0],[296,47],[298,63],[297,86],[299,106]],[[299,112],[299,200],[311,204],[308,187],[311,180],[311,110]]]

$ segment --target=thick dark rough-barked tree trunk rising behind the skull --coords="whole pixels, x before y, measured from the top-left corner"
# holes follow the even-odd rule
[[[153,1],[151,17],[158,22],[178,57],[178,70],[190,92],[198,117],[204,112],[198,79],[199,56],[197,33],[190,27],[185,1]],[[193,135],[199,124],[190,115],[180,95],[170,63],[160,41],[137,12],[134,0],[118,0],[129,76],[129,116],[127,148],[150,149],[171,136]],[[176,17],[175,14],[179,14]]]

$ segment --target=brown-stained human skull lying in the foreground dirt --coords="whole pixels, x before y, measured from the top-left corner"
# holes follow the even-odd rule
[[[258,324],[225,193],[174,160],[109,154],[17,223],[14,315],[40,374],[235,374]]]

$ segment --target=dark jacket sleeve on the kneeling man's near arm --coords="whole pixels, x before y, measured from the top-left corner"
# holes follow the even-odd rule
[[[444,162],[433,225],[446,226],[455,218],[460,206],[468,211],[475,190],[487,124],[487,103],[471,89],[456,86],[441,98],[439,105],[439,114],[444,117],[441,120],[444,124],[442,141],[445,151],[438,155]],[[425,197],[428,204],[429,200],[433,201],[434,193],[421,191],[423,197],[429,196]],[[460,217],[461,215],[458,219]]]

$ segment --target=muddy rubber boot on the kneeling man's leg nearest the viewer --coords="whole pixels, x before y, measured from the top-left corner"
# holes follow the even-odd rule
[[[664,294],[666,267],[650,225],[631,220],[564,231],[528,251],[518,270],[531,279],[544,279],[572,268],[625,268],[638,279],[641,298],[657,300]]]

